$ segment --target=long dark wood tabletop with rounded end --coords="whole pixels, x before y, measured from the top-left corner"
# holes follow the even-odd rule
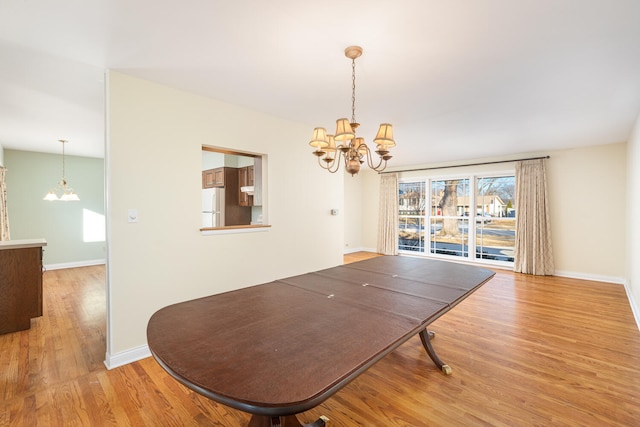
[[[494,274],[378,257],[165,307],[147,338],[163,368],[196,392],[259,416],[291,416],[426,331]]]

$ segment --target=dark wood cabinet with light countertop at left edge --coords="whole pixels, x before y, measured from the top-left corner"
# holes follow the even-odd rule
[[[46,242],[2,242],[0,247],[0,334],[31,327],[42,316],[42,246]]]

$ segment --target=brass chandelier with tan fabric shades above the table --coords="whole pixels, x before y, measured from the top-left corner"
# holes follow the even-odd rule
[[[356,122],[356,58],[362,55],[362,48],[349,46],[344,50],[344,55],[351,59],[351,122],[346,118],[336,120],[334,135],[328,135],[325,128],[315,128],[309,145],[315,147],[313,154],[318,157],[320,167],[331,173],[337,172],[343,157],[345,169],[351,176],[360,171],[360,165],[365,161],[371,169],[381,172],[391,158],[389,148],[396,145],[393,126],[389,123],[380,125],[373,140],[376,143],[375,153],[379,157],[378,163],[374,164],[371,149],[365,144],[364,138],[356,137],[356,129],[360,126]],[[336,141],[339,143],[337,146]]]

